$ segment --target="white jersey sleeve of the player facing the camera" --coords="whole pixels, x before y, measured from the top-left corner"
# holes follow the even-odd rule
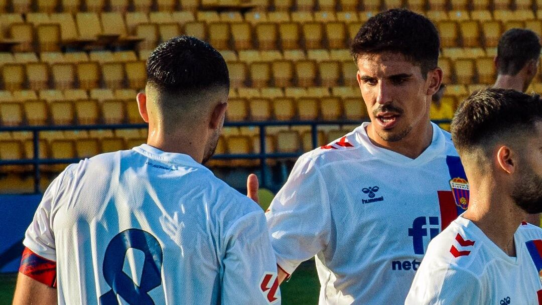
[[[324,177],[314,160],[301,157],[266,212],[277,263],[288,275],[330,241],[328,198]]]

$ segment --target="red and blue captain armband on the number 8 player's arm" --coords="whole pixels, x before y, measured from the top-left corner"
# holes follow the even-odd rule
[[[56,262],[43,258],[24,248],[19,272],[34,280],[56,288]]]

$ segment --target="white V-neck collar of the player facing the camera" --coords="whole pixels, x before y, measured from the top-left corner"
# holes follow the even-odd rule
[[[425,148],[425,151],[423,151],[416,159],[410,159],[400,153],[372,144],[365,129],[367,125],[369,125],[369,122],[363,122],[363,124],[356,128],[354,132],[356,132],[356,139],[375,157],[390,163],[418,166],[427,163],[436,157],[442,157],[446,150],[446,138],[444,137],[441,128],[433,122],[431,122],[431,124],[433,125],[433,138],[431,139],[431,144],[429,147]]]

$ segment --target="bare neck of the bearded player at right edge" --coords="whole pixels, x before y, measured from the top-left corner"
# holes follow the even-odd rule
[[[515,256],[514,233],[525,212],[512,201],[510,196],[495,192],[498,186],[470,185],[469,207],[463,217],[471,220],[508,256]]]

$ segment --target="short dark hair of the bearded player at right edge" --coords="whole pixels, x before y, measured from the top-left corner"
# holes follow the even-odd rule
[[[499,138],[530,134],[542,120],[540,95],[512,89],[486,88],[463,101],[451,121],[451,138],[457,151],[488,148]]]

